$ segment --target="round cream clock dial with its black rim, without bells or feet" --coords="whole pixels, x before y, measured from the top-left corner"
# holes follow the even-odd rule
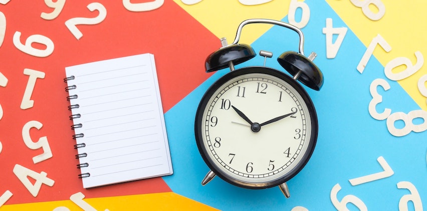
[[[268,67],[232,71],[214,83],[196,113],[206,164],[242,187],[276,186],[298,173],[317,139],[317,116],[292,77]]]

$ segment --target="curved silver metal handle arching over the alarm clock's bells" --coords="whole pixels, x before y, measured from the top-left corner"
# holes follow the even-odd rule
[[[299,29],[297,26],[294,26],[292,24],[282,22],[279,20],[272,20],[272,19],[256,18],[256,19],[244,20],[242,23],[240,23],[239,27],[237,28],[236,38],[234,39],[233,43],[231,43],[229,45],[237,44],[239,42],[240,34],[242,33],[243,26],[245,26],[246,24],[249,24],[249,23],[270,23],[270,24],[274,24],[274,25],[284,26],[284,27],[287,27],[287,28],[294,30],[300,36],[299,53],[304,55],[304,34],[301,31],[301,29]],[[227,46],[229,46],[229,45],[227,45]]]

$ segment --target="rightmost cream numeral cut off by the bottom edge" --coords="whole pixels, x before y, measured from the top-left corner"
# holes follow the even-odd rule
[[[408,189],[410,194],[403,195],[399,200],[399,211],[408,210],[408,202],[412,201],[415,211],[422,211],[422,202],[421,197],[419,196],[418,190],[416,187],[408,181],[400,181],[397,183],[397,188],[399,189]]]

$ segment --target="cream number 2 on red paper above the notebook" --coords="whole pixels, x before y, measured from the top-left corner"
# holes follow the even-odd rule
[[[71,31],[71,33],[76,37],[76,39],[80,39],[83,36],[83,33],[77,28],[76,25],[85,24],[85,25],[94,25],[102,22],[107,16],[107,9],[104,5],[93,2],[87,5],[90,11],[98,10],[99,14],[96,17],[74,17],[67,21],[65,21],[65,25]]]

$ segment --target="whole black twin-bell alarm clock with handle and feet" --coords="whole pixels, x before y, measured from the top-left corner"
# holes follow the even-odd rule
[[[257,55],[250,45],[238,43],[249,23],[280,25],[299,34],[299,52],[286,51],[277,58],[292,76],[265,66],[273,56],[265,50],[260,51],[263,66],[235,69]],[[210,168],[201,183],[218,175],[245,188],[279,186],[290,197],[286,181],[305,166],[317,140],[316,110],[298,82],[315,90],[322,87],[323,74],[312,62],[316,53],[304,55],[304,35],[298,27],[272,19],[243,21],[234,42],[222,38],[222,45],[206,58],[206,72],[231,71],[207,89],[195,114],[197,148]]]

